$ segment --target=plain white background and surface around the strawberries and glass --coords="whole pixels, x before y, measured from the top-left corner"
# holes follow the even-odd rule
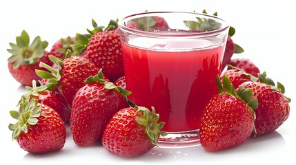
[[[149,153],[132,159],[124,159],[108,153],[101,144],[80,148],[75,146],[70,133],[65,147],[55,153],[32,155],[19,148],[11,140],[8,124],[15,122],[9,111],[15,109],[24,88],[17,83],[7,67],[10,56],[8,43],[26,30],[34,39],[41,36],[50,46],[65,36],[86,33],[92,28],[91,19],[107,25],[116,19],[136,12],[186,11],[218,16],[235,27],[233,40],[244,47],[243,54],[234,58],[248,57],[270,78],[286,87],[286,96],[292,98],[290,117],[277,131],[262,137],[250,138],[244,144],[226,151],[208,153],[200,145],[186,148],[153,148]],[[1,1],[0,2],[0,161],[10,164],[290,164],[295,156],[295,5],[293,1]],[[32,41],[32,40],[31,40]],[[2,164],[2,163],[1,163]]]

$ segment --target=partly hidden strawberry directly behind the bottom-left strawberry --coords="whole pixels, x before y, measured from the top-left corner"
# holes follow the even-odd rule
[[[29,100],[35,99],[40,104],[46,104],[48,107],[54,109],[61,119],[65,121],[65,116],[63,115],[63,106],[59,99],[52,93],[52,91],[49,91],[47,89],[48,87],[46,85],[40,85],[37,87],[36,81],[33,80],[32,87],[26,86],[26,89],[28,90],[23,96],[21,96],[21,100],[19,100],[19,103],[17,105],[20,105],[22,102],[28,102]]]

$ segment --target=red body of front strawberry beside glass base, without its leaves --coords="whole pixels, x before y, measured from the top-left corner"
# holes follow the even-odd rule
[[[126,108],[115,113],[103,133],[102,144],[107,151],[121,157],[136,157],[154,147],[148,140],[144,126],[135,120],[136,111]]]

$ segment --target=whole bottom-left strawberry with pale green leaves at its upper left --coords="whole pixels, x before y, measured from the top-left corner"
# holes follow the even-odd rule
[[[66,125],[59,114],[37,100],[23,102],[19,111],[10,111],[16,124],[9,124],[12,139],[29,153],[46,153],[63,148],[66,142]]]

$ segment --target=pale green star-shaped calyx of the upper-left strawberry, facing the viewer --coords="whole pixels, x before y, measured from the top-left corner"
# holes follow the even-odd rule
[[[20,36],[16,37],[16,44],[9,43],[11,49],[7,51],[12,54],[8,58],[9,63],[14,63],[13,68],[17,69],[22,63],[31,65],[37,62],[38,58],[43,57],[44,51],[48,46],[47,41],[41,41],[40,36],[36,36],[30,44],[28,33],[23,30]]]

